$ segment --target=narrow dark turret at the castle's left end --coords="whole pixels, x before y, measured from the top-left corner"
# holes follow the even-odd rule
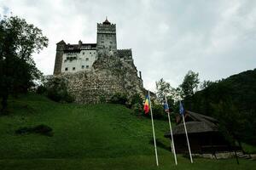
[[[57,47],[56,47],[54,75],[61,74],[62,58],[64,54],[64,49],[66,48],[66,42],[61,40],[61,42],[56,43],[56,45]]]

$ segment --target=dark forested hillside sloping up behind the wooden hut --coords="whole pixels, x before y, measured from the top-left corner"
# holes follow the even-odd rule
[[[256,144],[256,69],[213,82],[184,99],[184,104],[190,111],[225,122],[226,127],[236,131],[236,139]]]

